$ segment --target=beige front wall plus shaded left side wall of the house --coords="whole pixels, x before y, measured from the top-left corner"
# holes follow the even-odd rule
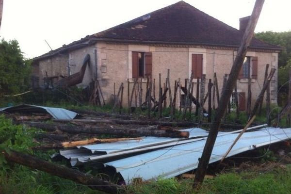
[[[123,91],[123,106],[128,105],[128,81],[129,91],[131,94],[133,79],[131,72],[131,52],[152,52],[152,76],[155,79],[156,99],[159,96],[159,74],[161,73],[162,85],[167,76],[167,69],[170,69],[170,82],[172,95],[174,93],[174,82],[181,79],[182,86],[184,86],[185,79],[190,78],[192,54],[203,54],[203,74],[206,74],[207,81],[212,79],[214,71],[217,73],[218,85],[221,92],[223,85],[224,74],[229,74],[236,51],[224,49],[203,49],[203,48],[175,48],[175,47],[152,47],[143,45],[126,45],[126,44],[108,44],[97,43],[94,46],[86,47],[78,50],[71,51],[69,56],[57,56],[51,59],[41,61],[39,63],[40,77],[45,76],[45,71],[48,75],[68,75],[67,63],[69,61],[71,74],[80,70],[82,61],[88,53],[91,57],[91,65],[87,67],[83,82],[79,86],[88,85],[92,79],[95,78],[95,50],[97,51],[97,79],[100,82],[101,90],[106,103],[113,101],[113,88],[115,83],[115,95],[118,93],[120,84],[124,83]],[[270,67],[277,69],[278,54],[271,52],[247,52],[247,56],[258,57],[258,79],[252,79],[252,105],[254,105],[259,92],[263,85],[265,65],[270,64]],[[271,68],[269,68],[271,69]],[[276,103],[277,100],[277,74],[275,74],[271,83],[271,100]],[[142,79],[143,99],[145,101],[146,94],[146,78]],[[247,94],[247,80],[242,79],[237,81],[239,92]],[[196,79],[194,79],[194,95],[196,93]],[[207,91],[205,92],[205,94]],[[137,92],[138,96],[138,92]],[[130,98],[130,97],[129,97]],[[167,97],[167,100],[169,97]],[[216,99],[216,98],[215,98]],[[177,95],[177,105],[179,96]],[[139,104],[135,103],[135,95],[133,95],[132,106]],[[169,104],[169,102],[167,102]],[[217,106],[217,102],[215,101]],[[207,105],[205,106],[207,107]]]

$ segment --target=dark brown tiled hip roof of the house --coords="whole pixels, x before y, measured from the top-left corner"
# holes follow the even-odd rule
[[[98,40],[124,43],[165,43],[239,47],[242,36],[243,32],[205,14],[184,1],[179,1],[108,30],[90,36],[88,35],[81,40],[50,51],[35,59],[46,58],[68,49],[78,49],[92,45]],[[283,49],[256,38],[253,38],[250,48]]]

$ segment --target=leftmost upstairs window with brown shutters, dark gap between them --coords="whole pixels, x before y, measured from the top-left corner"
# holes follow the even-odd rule
[[[132,78],[143,78],[152,74],[152,53],[132,51]]]

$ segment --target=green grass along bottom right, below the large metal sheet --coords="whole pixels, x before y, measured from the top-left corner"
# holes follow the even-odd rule
[[[291,165],[270,172],[229,172],[205,179],[199,191],[192,189],[193,179],[159,179],[137,183],[128,194],[291,194]]]

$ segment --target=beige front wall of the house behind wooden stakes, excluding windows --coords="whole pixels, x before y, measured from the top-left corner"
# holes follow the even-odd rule
[[[172,47],[151,47],[142,45],[114,45],[98,43],[96,45],[98,55],[98,78],[104,84],[102,92],[105,93],[108,100],[113,96],[113,84],[115,85],[115,95],[117,95],[120,83],[124,83],[123,105],[128,105],[127,97],[127,79],[129,78],[129,90],[131,94],[133,79],[131,73],[131,52],[152,52],[152,76],[155,79],[156,93],[158,98],[158,84],[159,73],[161,73],[162,85],[167,76],[167,69],[170,69],[170,82],[172,95],[174,93],[174,82],[181,79],[182,85],[184,80],[190,78],[191,72],[191,56],[192,54],[203,54],[203,72],[206,74],[207,81],[212,79],[214,71],[217,73],[218,85],[221,88],[223,85],[223,77],[229,74],[236,51],[234,50],[219,50],[219,49],[202,49],[202,48],[172,48]],[[272,67],[277,68],[277,53],[271,52],[248,52],[247,56],[258,57],[258,79],[252,79],[252,105],[255,103],[264,80],[265,65],[270,64]],[[270,67],[271,67],[270,66]],[[271,68],[269,68],[271,69]],[[276,74],[274,81],[271,83],[271,99],[272,103],[276,103]],[[146,79],[143,79],[143,102],[145,101],[146,92]],[[237,81],[238,91],[247,94],[247,80],[242,79]],[[194,79],[194,88],[196,88],[196,80]],[[194,89],[194,95],[196,90]],[[205,94],[207,91],[205,92]],[[129,97],[130,98],[130,97]],[[169,98],[169,97],[168,97]],[[169,99],[167,99],[169,100]],[[135,106],[135,95],[133,95],[132,106]],[[139,101],[137,99],[137,101]],[[179,98],[177,96],[178,107]],[[137,102],[137,105],[139,102]],[[167,102],[169,104],[169,102]],[[217,102],[215,101],[217,106]],[[207,105],[206,105],[207,107]]]

